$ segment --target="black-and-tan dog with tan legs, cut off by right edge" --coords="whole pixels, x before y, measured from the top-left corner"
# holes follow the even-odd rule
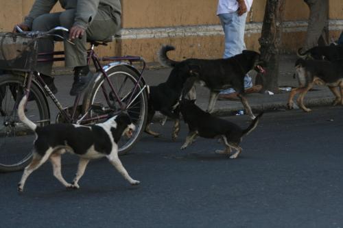
[[[294,107],[294,96],[300,93],[296,100],[298,105],[305,112],[310,112],[311,110],[305,107],[303,100],[305,94],[314,84],[328,86],[335,95],[333,105],[343,105],[343,59],[332,62],[298,59],[296,61],[296,76],[298,77],[300,87],[292,89],[289,93],[287,103],[289,109]]]

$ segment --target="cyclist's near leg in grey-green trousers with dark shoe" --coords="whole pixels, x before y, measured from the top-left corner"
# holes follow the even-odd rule
[[[75,10],[66,10],[60,15],[62,26],[70,28],[73,26]],[[110,8],[98,8],[97,15],[86,29],[86,34],[80,39],[75,39],[75,45],[64,42],[65,63],[67,67],[74,68],[74,83],[70,94],[76,95],[84,90],[92,79],[93,74],[89,71],[86,61],[87,45],[86,40],[105,40],[114,36],[119,30],[120,21],[116,21],[110,15]]]

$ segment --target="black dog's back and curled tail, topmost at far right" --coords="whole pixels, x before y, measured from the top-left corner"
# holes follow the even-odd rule
[[[304,60],[313,59],[313,60],[342,60],[343,59],[343,47],[339,45],[330,45],[330,46],[317,46],[312,47],[311,49],[301,52],[301,49],[298,49],[297,55],[299,58]]]

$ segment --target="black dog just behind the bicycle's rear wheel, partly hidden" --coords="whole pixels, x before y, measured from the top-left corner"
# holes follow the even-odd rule
[[[166,52],[167,47],[163,46],[158,54],[158,57],[163,58],[163,53]],[[182,71],[173,69],[167,81],[158,84],[158,86],[150,86],[150,93],[148,99],[148,114],[147,125],[145,132],[152,136],[158,137],[160,134],[150,129],[150,123],[156,111],[161,112],[166,118],[169,117],[174,120],[174,129],[171,134],[172,140],[176,140],[178,132],[180,131],[180,110],[178,101],[181,96],[182,88],[188,77],[193,75],[192,68],[187,64],[180,64]],[[164,123],[163,123],[164,124]]]

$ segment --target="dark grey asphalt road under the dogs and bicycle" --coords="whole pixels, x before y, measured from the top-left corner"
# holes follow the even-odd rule
[[[343,108],[271,112],[244,138],[236,160],[216,140],[185,151],[182,131],[155,124],[123,165],[130,186],[106,160],[91,162],[80,190],[65,190],[50,164],[16,192],[19,173],[0,174],[0,227],[343,227]],[[245,127],[248,116],[227,119]],[[63,158],[71,180],[77,160]]]

